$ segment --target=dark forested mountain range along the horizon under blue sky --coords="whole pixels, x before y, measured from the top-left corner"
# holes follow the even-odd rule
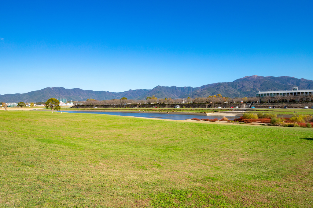
[[[259,91],[291,90],[293,86],[299,89],[313,89],[313,81],[297,79],[288,76],[245,76],[233,82],[218,82],[201,87],[164,87],[156,86],[153,89],[135,89],[125,92],[93,91],[79,88],[65,89],[64,87],[47,87],[23,94],[0,95],[0,102],[45,102],[49,98],[66,98],[67,100],[82,101],[87,98],[97,100],[146,99],[155,95],[157,98],[195,98],[222,94],[224,97],[254,97]]]

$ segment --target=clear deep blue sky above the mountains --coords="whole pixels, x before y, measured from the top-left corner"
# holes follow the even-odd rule
[[[1,1],[0,94],[313,80],[313,1]]]

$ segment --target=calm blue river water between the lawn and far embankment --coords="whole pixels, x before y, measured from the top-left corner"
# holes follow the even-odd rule
[[[155,118],[155,119],[171,119],[171,120],[185,120],[185,119],[221,119],[223,116],[205,116],[205,115],[185,115],[185,114],[158,114],[158,113],[130,113],[130,112],[95,112],[95,111],[62,111],[64,113],[74,114],[107,114],[116,116],[135,116],[142,118]],[[229,120],[239,118],[237,116],[226,116]]]

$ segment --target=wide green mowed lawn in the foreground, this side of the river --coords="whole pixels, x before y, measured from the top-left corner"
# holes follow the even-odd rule
[[[0,207],[311,207],[313,129],[0,112]]]

